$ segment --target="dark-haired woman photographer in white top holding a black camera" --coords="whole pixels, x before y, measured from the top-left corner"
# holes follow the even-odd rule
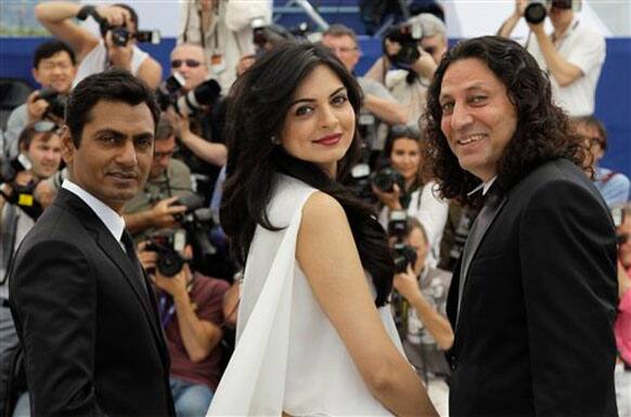
[[[417,128],[394,126],[384,153],[390,165],[372,175],[372,192],[382,205],[378,219],[384,227],[397,210],[404,210],[423,224],[430,247],[428,259],[434,266],[439,258],[448,205],[434,195],[435,182],[423,175],[421,146]]]

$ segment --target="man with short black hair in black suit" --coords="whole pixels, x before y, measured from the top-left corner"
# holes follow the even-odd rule
[[[155,300],[120,217],[146,181],[158,112],[120,69],[69,99],[69,178],[10,275],[33,416],[175,416]]]

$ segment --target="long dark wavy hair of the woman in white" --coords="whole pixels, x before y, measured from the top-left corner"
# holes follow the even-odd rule
[[[231,238],[232,252],[245,263],[257,224],[270,223],[267,206],[276,173],[294,177],[331,196],[344,207],[362,266],[370,272],[377,307],[384,305],[392,286],[394,264],[385,232],[369,206],[311,162],[288,155],[270,138],[280,138],[294,92],[311,71],[325,65],[339,78],[359,114],[361,90],[355,78],[329,49],[310,43],[287,43],[268,52],[243,74],[230,91],[226,126],[227,179],[221,204],[221,225]],[[357,123],[357,120],[356,120]],[[338,161],[337,178],[348,174],[360,156],[357,126],[349,151]]]

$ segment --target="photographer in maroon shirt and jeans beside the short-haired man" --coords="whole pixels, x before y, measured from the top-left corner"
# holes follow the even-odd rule
[[[176,414],[203,416],[223,372],[220,340],[223,298],[229,285],[191,270],[190,245],[169,248],[171,256],[176,251],[181,257],[180,271],[160,272],[159,258],[164,251],[154,251],[151,245],[141,243],[138,258],[157,289],[158,311],[171,360],[170,387]]]

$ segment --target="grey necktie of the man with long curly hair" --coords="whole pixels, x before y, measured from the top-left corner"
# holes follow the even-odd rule
[[[468,265],[471,265],[472,257],[474,256],[474,248],[479,244],[479,240],[484,237],[487,229],[489,229],[489,223],[493,219],[495,211],[498,210],[498,205],[502,200],[499,187],[492,184],[487,195],[485,196],[485,205],[478,213],[464,244],[464,250],[462,252],[462,263],[460,270],[460,282],[458,287],[458,315],[460,316],[460,305],[462,303],[462,296],[464,292],[464,285],[466,282],[466,275],[468,274]],[[458,323],[458,318],[456,318]]]

